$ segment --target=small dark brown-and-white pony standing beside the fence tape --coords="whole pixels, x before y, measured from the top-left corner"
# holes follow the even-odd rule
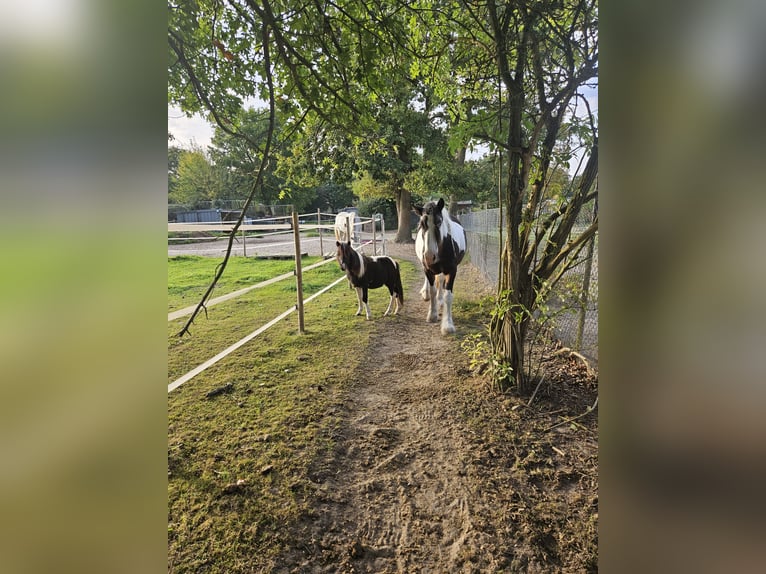
[[[356,310],[357,315],[362,314],[362,305],[364,305],[367,314],[367,320],[372,319],[370,306],[367,303],[367,290],[377,289],[385,285],[388,287],[388,293],[391,299],[388,301],[388,309],[383,315],[391,312],[394,307],[394,315],[399,313],[399,308],[404,306],[404,290],[402,289],[402,278],[399,274],[399,264],[390,257],[367,257],[351,247],[351,242],[335,242],[337,247],[336,259],[340,268],[346,272],[346,278],[349,283],[356,288],[356,297],[359,301],[359,307]]]

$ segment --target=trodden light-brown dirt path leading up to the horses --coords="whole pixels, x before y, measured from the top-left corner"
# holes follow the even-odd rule
[[[464,366],[444,360],[457,341],[425,322],[420,283],[405,287],[402,316],[380,320],[336,457],[313,477],[321,504],[303,571],[454,572],[477,543],[470,448],[443,392]]]

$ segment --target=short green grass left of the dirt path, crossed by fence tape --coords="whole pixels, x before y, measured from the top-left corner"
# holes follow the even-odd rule
[[[169,260],[169,298],[181,287],[204,289],[218,261]],[[260,266],[279,274],[285,263],[236,258],[224,278],[239,288],[245,277],[260,277]],[[406,283],[416,270],[402,262],[402,273]],[[307,272],[304,297],[340,276],[334,264]],[[170,322],[168,382],[294,303],[295,283],[284,281],[212,307],[191,337],[175,336],[182,319]],[[362,356],[348,351],[368,345],[376,320],[400,320],[381,317],[385,289],[370,291],[370,303],[373,321],[355,317],[356,295],[341,282],[306,305],[304,335],[292,314],[168,395],[169,571],[269,570],[295,544],[285,524],[308,512],[301,501],[314,488],[311,464],[332,449],[338,406]],[[227,383],[230,392],[206,396]],[[226,494],[237,480],[245,482]]]

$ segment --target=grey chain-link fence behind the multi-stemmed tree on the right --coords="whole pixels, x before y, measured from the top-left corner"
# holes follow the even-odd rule
[[[590,204],[580,211],[572,229],[574,236],[591,224],[593,209],[594,206]],[[497,285],[501,251],[500,210],[496,208],[464,213],[460,215],[460,222],[466,230],[471,263],[489,282]],[[553,314],[552,324],[556,337],[597,368],[598,233],[580,252],[576,265],[555,286],[547,303],[549,312]]]

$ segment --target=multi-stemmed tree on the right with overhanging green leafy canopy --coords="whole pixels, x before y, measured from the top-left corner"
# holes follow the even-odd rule
[[[401,101],[411,97],[401,95],[409,84],[449,126],[456,157],[471,138],[502,152],[505,225],[491,340],[508,365],[501,383],[528,391],[532,313],[598,227],[596,219],[573,234],[596,197],[596,121],[580,112],[581,90],[598,73],[595,0],[183,0],[169,11],[169,98],[206,111],[236,137],[247,138],[236,120],[243,100],[260,97],[271,104],[272,125],[278,107],[286,131],[313,118],[352,145],[373,141],[371,151],[379,150],[385,137],[371,134],[381,133],[392,102],[409,108]],[[573,134],[590,148],[586,168],[546,211]],[[265,163],[267,150],[249,143]],[[396,148],[399,161],[406,148]]]

